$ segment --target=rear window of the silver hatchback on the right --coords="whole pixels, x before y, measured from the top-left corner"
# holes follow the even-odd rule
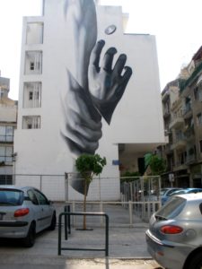
[[[155,213],[155,217],[169,220],[178,216],[186,204],[186,199],[182,197],[173,196],[171,201],[162,206],[160,210]]]

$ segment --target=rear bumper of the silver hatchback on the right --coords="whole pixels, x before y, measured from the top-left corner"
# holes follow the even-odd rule
[[[187,256],[194,249],[175,242],[161,241],[146,230],[145,239],[149,254],[159,265],[168,269],[182,269]]]

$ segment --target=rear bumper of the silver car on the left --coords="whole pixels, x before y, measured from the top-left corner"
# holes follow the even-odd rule
[[[0,238],[22,239],[29,230],[27,221],[0,221]]]

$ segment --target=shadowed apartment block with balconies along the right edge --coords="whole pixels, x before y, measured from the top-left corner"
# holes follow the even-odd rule
[[[175,186],[202,187],[202,48],[198,49],[189,65],[181,71],[176,83],[179,96],[176,95],[176,100],[170,107],[171,137],[166,147],[171,151],[168,155],[163,150],[169,168],[167,175],[162,177],[163,184],[169,185],[170,173],[174,175]],[[166,124],[165,118],[164,123]]]

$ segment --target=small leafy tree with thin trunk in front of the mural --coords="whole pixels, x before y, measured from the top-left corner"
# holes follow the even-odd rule
[[[92,182],[94,175],[101,174],[103,167],[107,164],[106,158],[101,158],[99,154],[82,154],[75,161],[75,167],[83,178],[84,184],[84,200],[83,212],[86,212],[86,197],[88,194],[88,187]],[[83,230],[86,230],[86,218],[83,216]]]

